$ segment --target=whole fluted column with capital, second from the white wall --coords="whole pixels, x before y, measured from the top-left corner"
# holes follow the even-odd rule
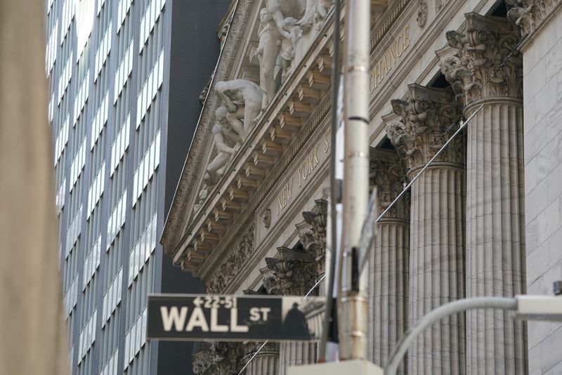
[[[461,115],[450,89],[408,86],[393,100],[402,121],[388,138],[405,156],[412,179],[456,130]],[[457,137],[412,185],[410,324],[440,305],[464,298],[464,143]],[[408,353],[410,374],[464,374],[464,314],[451,315],[419,336]]]

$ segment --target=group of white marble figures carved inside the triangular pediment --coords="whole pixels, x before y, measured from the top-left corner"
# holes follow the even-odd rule
[[[275,96],[276,74],[287,79],[296,45],[312,25],[326,18],[333,0],[266,0],[259,12],[259,86],[247,79],[219,81],[214,90],[221,101],[212,128],[216,154],[207,166],[194,211],[200,210],[209,188],[223,176],[228,163],[254,128],[261,112]],[[226,30],[230,23],[225,25]],[[203,96],[207,96],[204,91]]]

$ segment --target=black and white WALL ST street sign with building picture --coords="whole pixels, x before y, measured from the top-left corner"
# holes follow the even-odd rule
[[[147,338],[203,341],[316,341],[325,297],[153,294]]]

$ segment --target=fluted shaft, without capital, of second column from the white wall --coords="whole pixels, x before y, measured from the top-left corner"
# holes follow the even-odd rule
[[[437,163],[412,186],[411,324],[440,305],[464,298],[464,199],[461,166]],[[464,374],[464,329],[464,314],[433,324],[409,351],[410,374]]]

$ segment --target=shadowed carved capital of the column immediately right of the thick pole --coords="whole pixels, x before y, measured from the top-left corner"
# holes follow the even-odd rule
[[[371,148],[369,184],[377,186],[379,214],[382,213],[402,192],[407,181],[405,167],[392,150]],[[386,218],[407,220],[410,216],[410,204],[407,199],[400,199],[388,211]]]

